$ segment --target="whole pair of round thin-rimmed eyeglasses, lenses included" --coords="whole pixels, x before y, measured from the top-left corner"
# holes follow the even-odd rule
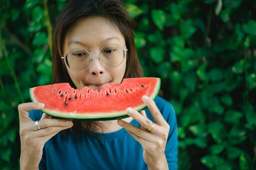
[[[72,71],[81,72],[89,67],[89,64],[93,61],[91,54],[97,53],[97,58],[106,67],[117,67],[124,60],[124,52],[127,49],[123,49],[118,44],[108,44],[103,46],[99,52],[89,53],[87,50],[82,48],[73,48],[68,50],[62,59],[64,59],[65,65]]]

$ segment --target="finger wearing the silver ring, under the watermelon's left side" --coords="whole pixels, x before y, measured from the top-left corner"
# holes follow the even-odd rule
[[[49,128],[49,127],[70,127],[73,125],[73,122],[70,120],[64,119],[42,119],[37,122],[41,129]],[[31,129],[33,131],[37,131],[38,129],[35,126],[35,122],[32,122]]]

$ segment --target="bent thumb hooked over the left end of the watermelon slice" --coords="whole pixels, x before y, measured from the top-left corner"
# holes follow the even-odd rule
[[[28,116],[28,111],[30,110],[40,110],[44,107],[43,103],[34,103],[34,102],[30,102],[30,103],[22,103],[18,105],[18,114],[19,114],[19,119],[20,121],[24,121],[27,120],[29,118]]]

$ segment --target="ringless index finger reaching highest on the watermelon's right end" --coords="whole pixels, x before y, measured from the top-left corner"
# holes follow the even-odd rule
[[[147,96],[142,96],[142,101],[146,104],[148,107],[151,115],[153,116],[155,122],[159,125],[162,125],[165,123],[165,120],[162,117],[162,114],[160,113],[159,109],[157,108],[156,104],[152,99],[150,99]]]

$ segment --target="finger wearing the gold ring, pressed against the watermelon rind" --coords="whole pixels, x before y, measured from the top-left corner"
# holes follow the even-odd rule
[[[135,119],[140,124],[140,126],[144,127],[145,129],[149,129],[153,126],[153,122],[151,120],[149,120],[147,117],[144,117],[133,108],[127,108],[126,112],[130,117]]]

